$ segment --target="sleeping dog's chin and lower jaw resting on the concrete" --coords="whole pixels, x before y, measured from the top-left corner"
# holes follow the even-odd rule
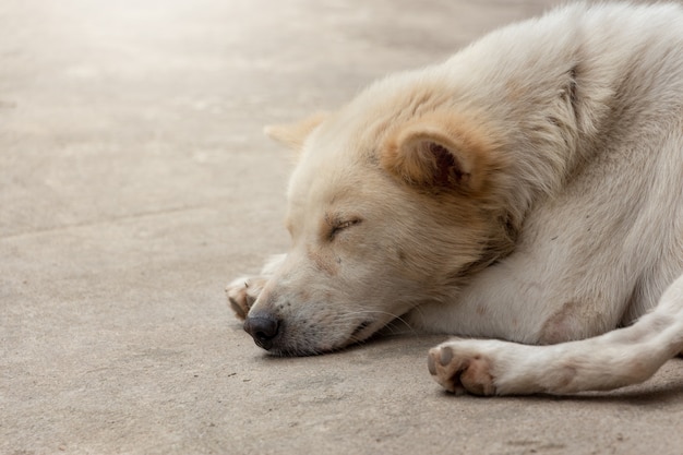
[[[309,357],[320,356],[344,350],[351,346],[361,344],[376,334],[385,322],[368,320],[354,327],[349,334],[338,340],[295,340],[293,343],[281,343],[273,345],[267,349],[268,355],[275,357]]]

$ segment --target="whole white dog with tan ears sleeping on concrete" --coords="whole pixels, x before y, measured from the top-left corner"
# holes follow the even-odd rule
[[[680,7],[565,7],[271,133],[300,153],[292,247],[228,287],[260,346],[396,318],[504,339],[430,351],[479,394],[613,388],[683,350]]]

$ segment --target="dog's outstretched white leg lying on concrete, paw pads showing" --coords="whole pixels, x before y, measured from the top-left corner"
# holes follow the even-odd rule
[[[683,275],[630,327],[551,346],[451,340],[430,350],[429,370],[456,394],[571,394],[640,383],[682,350]]]

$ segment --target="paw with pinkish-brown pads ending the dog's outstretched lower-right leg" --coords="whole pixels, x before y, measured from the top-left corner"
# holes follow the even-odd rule
[[[456,395],[495,395],[491,359],[476,348],[476,340],[452,340],[430,349],[429,372]]]

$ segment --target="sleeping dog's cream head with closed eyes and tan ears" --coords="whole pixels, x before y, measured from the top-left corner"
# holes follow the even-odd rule
[[[453,299],[512,249],[519,215],[491,120],[434,87],[386,92],[269,130],[298,154],[291,247],[245,321],[274,354],[367,339],[420,303]]]

